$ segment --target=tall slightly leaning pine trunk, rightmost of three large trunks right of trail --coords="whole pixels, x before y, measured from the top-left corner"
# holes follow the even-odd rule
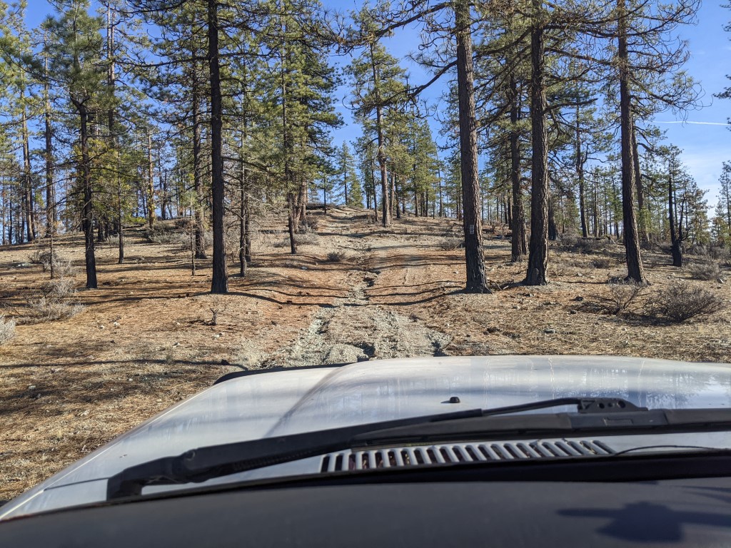
[[[635,216],[635,164],[632,156],[632,114],[630,105],[629,53],[627,51],[626,5],[625,0],[617,0],[618,7],[618,48],[619,61],[619,111],[621,126],[622,156],[622,221],[624,224],[624,247],[627,261],[627,279],[645,283],[645,272],[640,257],[640,241],[637,237],[637,218]]]

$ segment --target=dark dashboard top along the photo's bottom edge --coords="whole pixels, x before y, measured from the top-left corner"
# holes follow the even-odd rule
[[[3,547],[728,547],[731,478],[189,492],[0,523]]]

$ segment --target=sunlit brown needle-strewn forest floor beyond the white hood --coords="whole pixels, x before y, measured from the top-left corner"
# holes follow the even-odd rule
[[[667,255],[645,251],[651,286],[634,312],[615,316],[598,303],[607,280],[625,272],[617,244],[589,253],[552,244],[551,283],[524,287],[526,265],[510,263],[510,240],[488,232],[485,266],[503,289],[464,294],[463,250],[449,245],[460,232],[455,221],[407,217],[384,229],[360,210],[311,215],[316,232],[297,255],[281,218],[260,227],[249,272],[230,278],[226,296],[207,294],[210,261],[193,277],[179,242],[148,243],[132,229],[124,265],[115,246],[99,246],[99,289],[80,289],[77,268],[72,298],[83,308],[58,321],[31,319],[48,283],[29,259],[38,247],[0,248],[0,313],[18,321],[15,338],[0,346],[0,500],[242,368],[464,354],[731,362],[731,307],[683,324],[641,313],[678,278],[730,303],[728,265],[719,280],[695,281]],[[328,261],[336,252],[341,260]],[[58,253],[83,265],[83,240],[62,237]]]

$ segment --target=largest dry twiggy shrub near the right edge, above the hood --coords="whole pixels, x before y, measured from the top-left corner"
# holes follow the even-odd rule
[[[687,282],[673,283],[657,291],[648,305],[648,313],[670,321],[686,321],[709,316],[725,308],[721,297]]]

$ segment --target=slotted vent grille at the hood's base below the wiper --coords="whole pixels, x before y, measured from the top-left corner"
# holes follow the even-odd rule
[[[493,441],[478,444],[404,446],[326,454],[320,472],[400,468],[450,463],[480,463],[494,460],[532,460],[556,457],[594,457],[613,454],[601,441]]]

